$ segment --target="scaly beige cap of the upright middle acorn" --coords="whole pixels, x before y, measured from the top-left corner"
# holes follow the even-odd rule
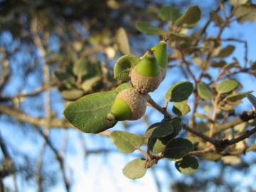
[[[145,77],[137,72],[136,68],[132,69],[131,82],[134,88],[141,93],[152,92],[159,87],[161,82],[161,73],[156,77]]]

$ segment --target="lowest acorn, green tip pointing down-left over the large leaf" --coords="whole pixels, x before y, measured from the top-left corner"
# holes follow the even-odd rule
[[[140,94],[133,87],[122,90],[115,98],[107,119],[124,121],[140,119],[146,111],[148,95]]]

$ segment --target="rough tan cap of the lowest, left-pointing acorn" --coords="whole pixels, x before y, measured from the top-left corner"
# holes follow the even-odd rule
[[[124,100],[132,111],[132,116],[127,120],[140,119],[146,112],[146,102],[149,100],[149,96],[140,94],[134,88],[122,90],[117,95],[117,98]]]

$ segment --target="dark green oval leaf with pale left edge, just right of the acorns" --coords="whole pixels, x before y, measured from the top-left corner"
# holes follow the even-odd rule
[[[193,84],[191,82],[177,82],[169,88],[165,97],[166,100],[171,102],[182,102],[183,100],[187,100],[192,92]]]

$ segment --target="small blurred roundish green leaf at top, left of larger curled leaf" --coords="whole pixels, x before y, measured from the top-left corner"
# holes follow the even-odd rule
[[[180,16],[180,11],[174,6],[164,6],[160,9],[160,17],[163,21],[175,22]]]

